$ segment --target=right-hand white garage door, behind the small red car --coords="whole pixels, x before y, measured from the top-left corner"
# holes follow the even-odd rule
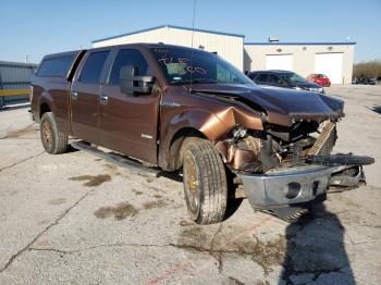
[[[315,73],[325,74],[331,83],[343,83],[343,53],[317,53],[315,55]]]

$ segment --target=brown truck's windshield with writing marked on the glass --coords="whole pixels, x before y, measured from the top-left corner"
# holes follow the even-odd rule
[[[171,85],[253,84],[241,71],[220,57],[187,48],[152,48],[152,53]]]

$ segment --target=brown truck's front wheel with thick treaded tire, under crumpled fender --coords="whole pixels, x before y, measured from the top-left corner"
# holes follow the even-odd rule
[[[189,218],[197,224],[223,221],[228,201],[224,164],[206,139],[187,138],[183,142],[183,184]]]

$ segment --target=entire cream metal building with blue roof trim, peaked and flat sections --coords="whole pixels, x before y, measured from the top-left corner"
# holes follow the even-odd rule
[[[325,74],[333,84],[351,84],[356,42],[244,42],[245,36],[172,25],[93,41],[94,47],[164,42],[216,52],[242,71],[290,70],[303,76]]]

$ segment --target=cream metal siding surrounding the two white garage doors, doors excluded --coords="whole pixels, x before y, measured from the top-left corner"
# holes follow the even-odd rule
[[[266,55],[293,54],[293,71],[302,76],[315,73],[317,53],[343,52],[342,83],[351,84],[353,72],[354,45],[245,45],[245,70],[266,69]]]

